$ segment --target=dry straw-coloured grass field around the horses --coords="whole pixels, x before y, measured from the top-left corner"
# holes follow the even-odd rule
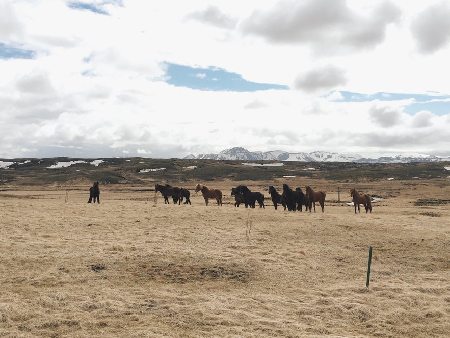
[[[235,208],[225,180],[200,182],[223,190],[221,207],[186,182],[192,205],[165,205],[151,185],[100,185],[100,204],[88,185],[10,186],[0,336],[449,335],[450,179],[284,181],[325,190],[325,212]],[[249,187],[268,197],[282,183]],[[339,186],[343,202],[353,186],[384,199],[355,215]]]

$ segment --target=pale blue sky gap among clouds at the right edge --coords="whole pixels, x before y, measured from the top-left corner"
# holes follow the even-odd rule
[[[430,92],[430,94],[408,94],[408,93],[375,93],[362,94],[341,91],[342,99],[340,102],[367,102],[373,100],[379,101],[400,101],[413,99],[411,103],[404,106],[404,112],[410,115],[426,110],[435,115],[450,114],[450,95],[442,95]]]

